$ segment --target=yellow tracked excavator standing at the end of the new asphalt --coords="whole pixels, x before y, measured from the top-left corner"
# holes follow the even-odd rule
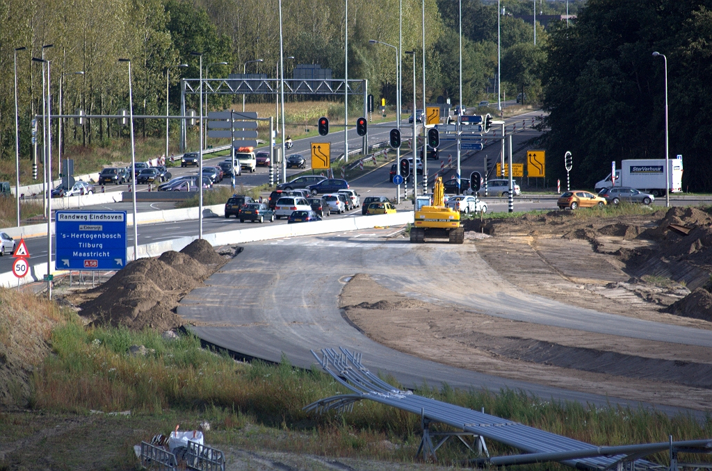
[[[433,186],[431,206],[416,207],[415,223],[410,229],[410,241],[423,243],[426,238],[449,239],[450,243],[464,243],[465,228],[460,226],[460,211],[445,206],[445,187],[439,176]]]

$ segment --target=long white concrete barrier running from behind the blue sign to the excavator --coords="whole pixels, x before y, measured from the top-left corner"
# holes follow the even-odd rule
[[[377,226],[401,226],[403,224],[412,223],[413,218],[414,213],[412,213],[412,211],[404,211],[402,213],[395,214],[379,214],[375,216],[356,216],[354,218],[332,219],[330,221],[319,221],[316,223],[280,224],[278,226],[261,226],[257,228],[238,229],[236,231],[206,234],[204,235],[204,239],[216,247],[219,245],[254,242],[257,240],[297,237],[299,235],[355,231],[357,229],[367,229]],[[189,237],[162,240],[161,242],[139,245],[138,258],[158,257],[162,253],[169,250],[182,250],[197,238],[197,235],[192,235]],[[133,255],[133,247],[127,248],[127,260],[133,260]],[[31,266],[28,275],[21,278],[19,281],[15,275],[12,274],[12,272],[0,273],[0,286],[16,287],[26,283],[41,281],[46,273],[47,263]],[[55,275],[62,275],[66,272],[53,270],[53,273]]]

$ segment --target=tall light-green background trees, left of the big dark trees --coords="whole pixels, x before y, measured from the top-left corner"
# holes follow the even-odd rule
[[[506,0],[509,12],[524,9],[519,0]],[[457,2],[426,0],[426,95],[429,102],[442,95],[459,97],[459,41]],[[488,80],[496,76],[496,4],[464,0],[463,97],[476,102]],[[549,10],[557,4],[543,3]],[[345,2],[342,0],[283,1],[283,36],[286,77],[298,63],[318,63],[332,68],[333,77],[344,73]],[[398,44],[398,18],[402,11],[403,50],[417,52],[417,92],[422,83],[422,2],[417,0],[351,0],[348,2],[349,76],[367,78],[370,91],[395,103],[395,56],[391,48],[372,46],[370,39]],[[191,51],[204,53],[204,68],[211,77],[242,73],[276,76],[279,58],[278,0],[0,0],[6,18],[0,28],[0,158],[14,157],[14,49],[17,52],[21,155],[30,157],[30,121],[41,114],[43,65],[32,57],[51,60],[53,113],[59,112],[58,90],[63,88],[65,114],[81,109],[88,115],[115,114],[128,107],[127,65],[132,62],[135,114],[159,115],[165,110],[166,72],[169,71],[171,112],[178,111],[179,80],[197,78],[198,60]],[[502,18],[503,80],[522,80],[521,71],[506,65],[518,59],[515,47],[530,42],[533,26]],[[544,31],[539,31],[545,43]],[[44,47],[49,46],[52,47]],[[510,52],[511,51],[511,52]],[[541,53],[542,48],[537,48]],[[509,55],[508,55],[509,54]],[[403,96],[412,96],[412,62],[403,55]],[[228,65],[209,65],[226,62]],[[175,68],[186,63],[188,68]],[[531,69],[531,68],[530,68]],[[533,69],[532,69],[533,70]],[[83,74],[76,74],[83,72]],[[528,70],[527,73],[531,72]],[[528,78],[526,80],[529,80]],[[536,85],[529,80],[528,85]],[[512,90],[516,86],[511,85]],[[191,97],[193,99],[193,97]],[[264,98],[252,97],[253,100]],[[229,98],[211,97],[211,105],[229,105]],[[197,107],[197,105],[192,105]],[[125,137],[127,127],[115,120],[86,120],[63,132],[66,147],[105,145]],[[53,123],[56,126],[56,122]],[[176,124],[177,125],[177,124]],[[164,132],[159,120],[137,120],[137,135]],[[57,129],[53,129],[56,142]],[[7,178],[8,176],[1,176]]]

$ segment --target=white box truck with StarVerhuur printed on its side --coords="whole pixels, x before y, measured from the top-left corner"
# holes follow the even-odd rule
[[[682,192],[682,159],[669,159],[669,186],[671,193]],[[616,170],[615,185],[611,184],[611,174],[596,184],[596,191],[610,186],[630,186],[647,191],[653,196],[665,194],[665,159],[624,160]]]

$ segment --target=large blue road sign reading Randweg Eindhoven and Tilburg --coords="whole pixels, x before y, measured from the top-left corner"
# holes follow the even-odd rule
[[[126,265],[126,211],[57,211],[56,270]]]

